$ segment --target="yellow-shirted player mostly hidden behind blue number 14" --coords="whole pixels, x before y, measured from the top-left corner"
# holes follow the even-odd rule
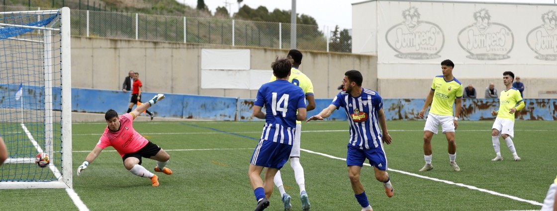
[[[288,52],[288,58],[292,59],[292,69],[290,70],[290,78],[288,81],[296,86],[302,88],[302,91],[306,94],[307,107],[306,110],[315,109],[315,96],[313,91],[313,84],[310,78],[308,78],[300,69],[300,64],[302,63],[302,53],[296,49],[291,49]],[[270,82],[275,81],[276,77],[272,76]],[[294,143],[292,144],[292,152],[290,153],[290,166],[294,169],[294,177],[296,178],[296,183],[300,187],[300,200],[302,202],[302,209],[310,209],[310,201],[307,197],[305,178],[304,178],[304,168],[300,164],[300,137],[302,134],[302,123],[296,121],[296,134],[294,137]],[[292,205],[290,204],[291,197],[286,193],[284,189],[284,184],[282,184],[282,178],[280,171],[275,175],[275,185],[282,196],[282,203],[284,204],[284,210],[290,210]]]

